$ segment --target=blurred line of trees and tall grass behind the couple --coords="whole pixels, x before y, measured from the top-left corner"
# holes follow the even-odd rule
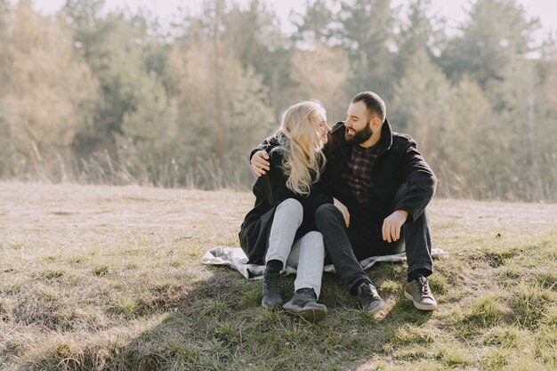
[[[557,200],[557,44],[515,0],[477,0],[457,32],[429,0],[309,0],[292,35],[263,0],[171,25],[104,5],[0,0],[2,179],[246,190],[290,104],[334,124],[372,90],[441,197]]]

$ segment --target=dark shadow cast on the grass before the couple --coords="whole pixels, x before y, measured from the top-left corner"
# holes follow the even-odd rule
[[[383,264],[368,273],[375,282],[399,279],[393,275],[404,266],[398,265]],[[311,324],[284,311],[263,310],[262,282],[224,267],[208,269],[210,278],[190,286],[157,326],[131,342],[85,348],[78,362],[53,357],[41,362],[42,369],[342,370],[384,353],[399,327],[430,318],[400,292],[385,298],[386,314],[370,316],[335,274],[325,274],[319,301],[329,315]],[[293,294],[294,279],[281,279],[285,300]]]

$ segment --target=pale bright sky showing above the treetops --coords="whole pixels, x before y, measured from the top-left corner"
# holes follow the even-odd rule
[[[411,0],[394,0],[392,4],[406,4]],[[247,3],[247,0],[239,0]],[[35,7],[40,12],[52,14],[60,10],[65,0],[34,0]],[[285,32],[293,31],[288,21],[291,11],[302,12],[306,0],[267,0],[271,9],[277,12]],[[465,20],[466,9],[470,8],[471,0],[432,0],[434,10],[448,20],[449,28],[456,28]],[[544,28],[543,32],[557,30],[557,0],[518,0],[530,16],[539,17]],[[202,0],[107,0],[109,9],[127,6],[131,10],[147,7],[155,11],[163,22],[172,20],[178,14],[180,7],[192,13],[199,12]],[[496,20],[494,20],[496,21]]]

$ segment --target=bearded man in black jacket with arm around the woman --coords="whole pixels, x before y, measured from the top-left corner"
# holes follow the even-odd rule
[[[265,150],[273,138],[252,152],[251,164],[261,176],[269,170]],[[348,208],[350,224],[333,205],[315,214],[328,258],[343,286],[359,296],[364,310],[375,313],[385,302],[377,294],[359,260],[399,253],[406,247],[408,283],[405,296],[416,308],[437,308],[427,277],[432,274],[431,239],[425,206],[437,179],[408,135],[392,133],[379,95],[356,94],[345,122],[329,133],[326,176],[333,196]]]

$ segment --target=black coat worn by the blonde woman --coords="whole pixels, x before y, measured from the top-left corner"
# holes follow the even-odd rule
[[[270,226],[272,225],[275,208],[287,198],[295,198],[303,206],[303,222],[296,231],[295,238],[300,238],[315,227],[315,211],[323,204],[333,202],[332,196],[325,193],[328,184],[325,173],[321,174],[318,183],[314,184],[311,193],[303,197],[287,188],[287,175],[280,166],[283,162],[282,151],[277,148],[278,141],[268,143],[266,149],[270,151],[270,171],[262,175],[254,183],[255,205],[246,214],[238,234],[240,246],[251,264],[263,265],[268,247]]]

